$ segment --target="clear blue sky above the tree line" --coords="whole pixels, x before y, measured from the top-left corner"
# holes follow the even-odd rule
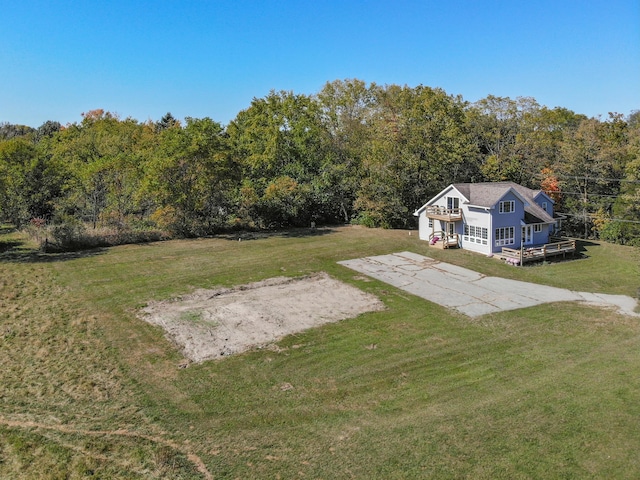
[[[640,0],[0,0],[0,122],[227,124],[270,90],[426,85],[640,109]]]

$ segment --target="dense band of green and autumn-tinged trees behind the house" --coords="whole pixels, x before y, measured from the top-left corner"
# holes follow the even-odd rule
[[[570,235],[640,243],[639,177],[638,111],[603,120],[360,80],[272,91],[226,126],[103,110],[0,124],[0,216],[61,245],[97,231],[122,242],[312,221],[407,227],[449,183],[501,180],[549,192]]]

